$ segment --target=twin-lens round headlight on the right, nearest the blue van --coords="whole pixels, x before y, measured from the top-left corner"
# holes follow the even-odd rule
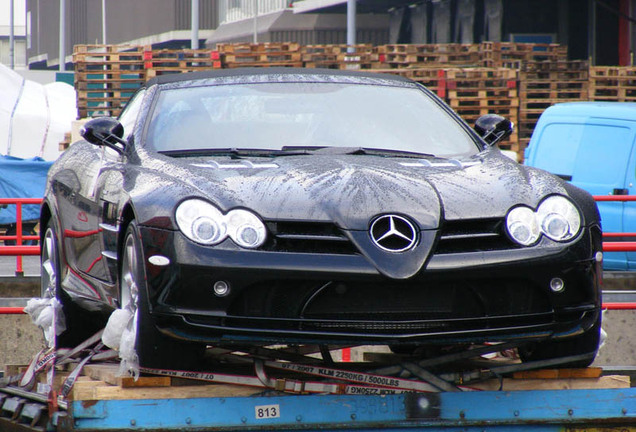
[[[541,234],[554,241],[568,241],[581,229],[581,214],[570,200],[551,196],[536,211],[515,207],[506,217],[508,234],[523,246],[534,244]]]

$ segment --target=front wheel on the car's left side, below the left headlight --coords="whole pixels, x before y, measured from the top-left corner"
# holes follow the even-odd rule
[[[126,229],[120,256],[119,304],[137,312],[135,351],[139,365],[151,369],[199,369],[204,345],[170,338],[155,326],[149,309],[141,236],[135,221]]]

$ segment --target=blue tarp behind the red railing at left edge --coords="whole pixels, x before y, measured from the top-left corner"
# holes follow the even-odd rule
[[[42,198],[46,175],[53,162],[0,155],[0,198]],[[0,225],[15,223],[15,205],[0,208]],[[22,220],[38,220],[39,205],[22,206]]]

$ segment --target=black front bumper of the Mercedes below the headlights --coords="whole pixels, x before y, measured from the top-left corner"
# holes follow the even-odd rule
[[[246,251],[142,227],[153,319],[204,343],[457,343],[574,336],[600,313],[600,231],[565,247],[433,256],[408,280],[358,254]],[[166,256],[164,267],[148,263]],[[555,293],[550,281],[565,290]],[[230,291],[214,294],[223,281]]]

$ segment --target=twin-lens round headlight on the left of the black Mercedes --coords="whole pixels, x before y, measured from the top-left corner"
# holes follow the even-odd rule
[[[244,248],[257,248],[267,237],[265,225],[254,213],[231,210],[226,215],[212,204],[190,199],[176,211],[177,225],[190,240],[205,245],[221,243],[228,236]]]

